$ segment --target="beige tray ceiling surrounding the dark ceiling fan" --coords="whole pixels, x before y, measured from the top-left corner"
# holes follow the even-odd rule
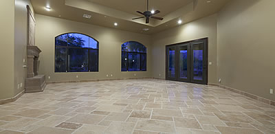
[[[160,10],[155,16],[164,17],[163,21],[144,19],[133,21],[140,16],[135,11],[146,10],[146,0],[31,0],[36,14],[54,16],[104,27],[112,27],[129,32],[155,34],[179,24],[201,19],[218,12],[230,0],[149,0],[149,10]],[[210,1],[210,2],[208,2]],[[51,10],[45,10],[50,6]],[[91,15],[91,19],[83,18],[83,14]],[[118,23],[114,26],[113,23]],[[148,28],[148,31],[144,31]]]

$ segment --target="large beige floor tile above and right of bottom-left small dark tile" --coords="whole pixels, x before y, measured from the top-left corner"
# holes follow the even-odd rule
[[[75,123],[82,123],[82,124],[98,124],[105,115],[94,115],[94,114],[84,114],[80,113],[75,115],[74,117],[70,118],[66,122],[75,122]]]

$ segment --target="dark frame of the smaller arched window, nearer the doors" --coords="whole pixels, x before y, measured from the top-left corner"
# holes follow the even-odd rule
[[[131,41],[126,41],[125,43],[128,43],[128,42],[131,42]],[[135,43],[139,43],[137,41],[132,41],[132,42],[135,42]],[[124,44],[124,43],[123,43]],[[122,45],[123,45],[122,44]],[[139,43],[141,45],[143,45],[142,43]],[[126,71],[129,71],[129,53],[133,53],[133,54],[140,54],[140,71],[147,71],[147,47],[145,45],[143,45],[145,48],[146,48],[146,52],[124,52],[122,50],[122,47],[121,47],[121,67],[120,67],[120,71],[122,71],[122,54],[123,53],[126,53],[126,56],[127,56],[127,61],[126,61]],[[142,70],[142,54],[145,54],[146,56],[146,68],[145,70]],[[125,72],[125,71],[122,71],[122,72]]]

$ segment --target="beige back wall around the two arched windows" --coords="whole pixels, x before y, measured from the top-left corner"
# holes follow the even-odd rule
[[[54,73],[54,38],[67,32],[80,32],[99,41],[99,72]],[[121,45],[126,41],[137,41],[147,47],[147,71],[120,71]],[[36,45],[42,50],[39,74],[45,74],[47,82],[151,76],[150,36],[147,35],[36,14]]]

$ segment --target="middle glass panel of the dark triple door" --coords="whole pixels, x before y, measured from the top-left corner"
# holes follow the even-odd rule
[[[187,78],[187,46],[179,47],[179,78]]]

